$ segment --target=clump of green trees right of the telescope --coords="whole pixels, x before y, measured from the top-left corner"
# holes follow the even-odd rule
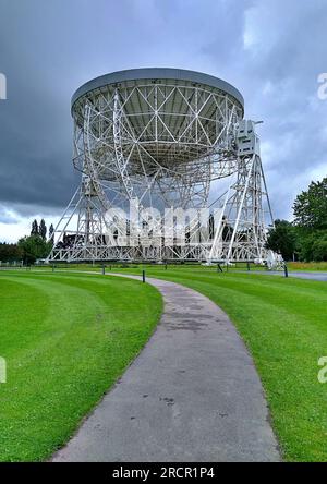
[[[312,182],[293,204],[293,221],[275,220],[267,247],[284,261],[327,261],[327,178]]]

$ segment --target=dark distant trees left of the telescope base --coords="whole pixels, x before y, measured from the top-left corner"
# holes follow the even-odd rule
[[[0,261],[2,263],[23,261],[28,265],[46,258],[52,249],[53,232],[52,223],[48,231],[44,219],[39,223],[36,219],[33,220],[29,235],[21,238],[17,243],[0,243]]]

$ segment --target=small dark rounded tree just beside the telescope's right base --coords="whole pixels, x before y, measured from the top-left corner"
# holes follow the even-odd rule
[[[292,223],[287,220],[275,220],[275,228],[268,231],[266,246],[281,254],[283,259],[292,259],[296,251],[296,233]]]

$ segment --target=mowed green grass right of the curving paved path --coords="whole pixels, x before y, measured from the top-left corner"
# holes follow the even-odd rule
[[[283,458],[327,461],[327,384],[317,379],[327,283],[199,267],[147,266],[146,275],[193,288],[229,314],[254,358]]]

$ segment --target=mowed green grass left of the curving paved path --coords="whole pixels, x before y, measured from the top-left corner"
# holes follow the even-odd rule
[[[0,460],[49,458],[159,319],[155,288],[81,274],[0,273]]]

